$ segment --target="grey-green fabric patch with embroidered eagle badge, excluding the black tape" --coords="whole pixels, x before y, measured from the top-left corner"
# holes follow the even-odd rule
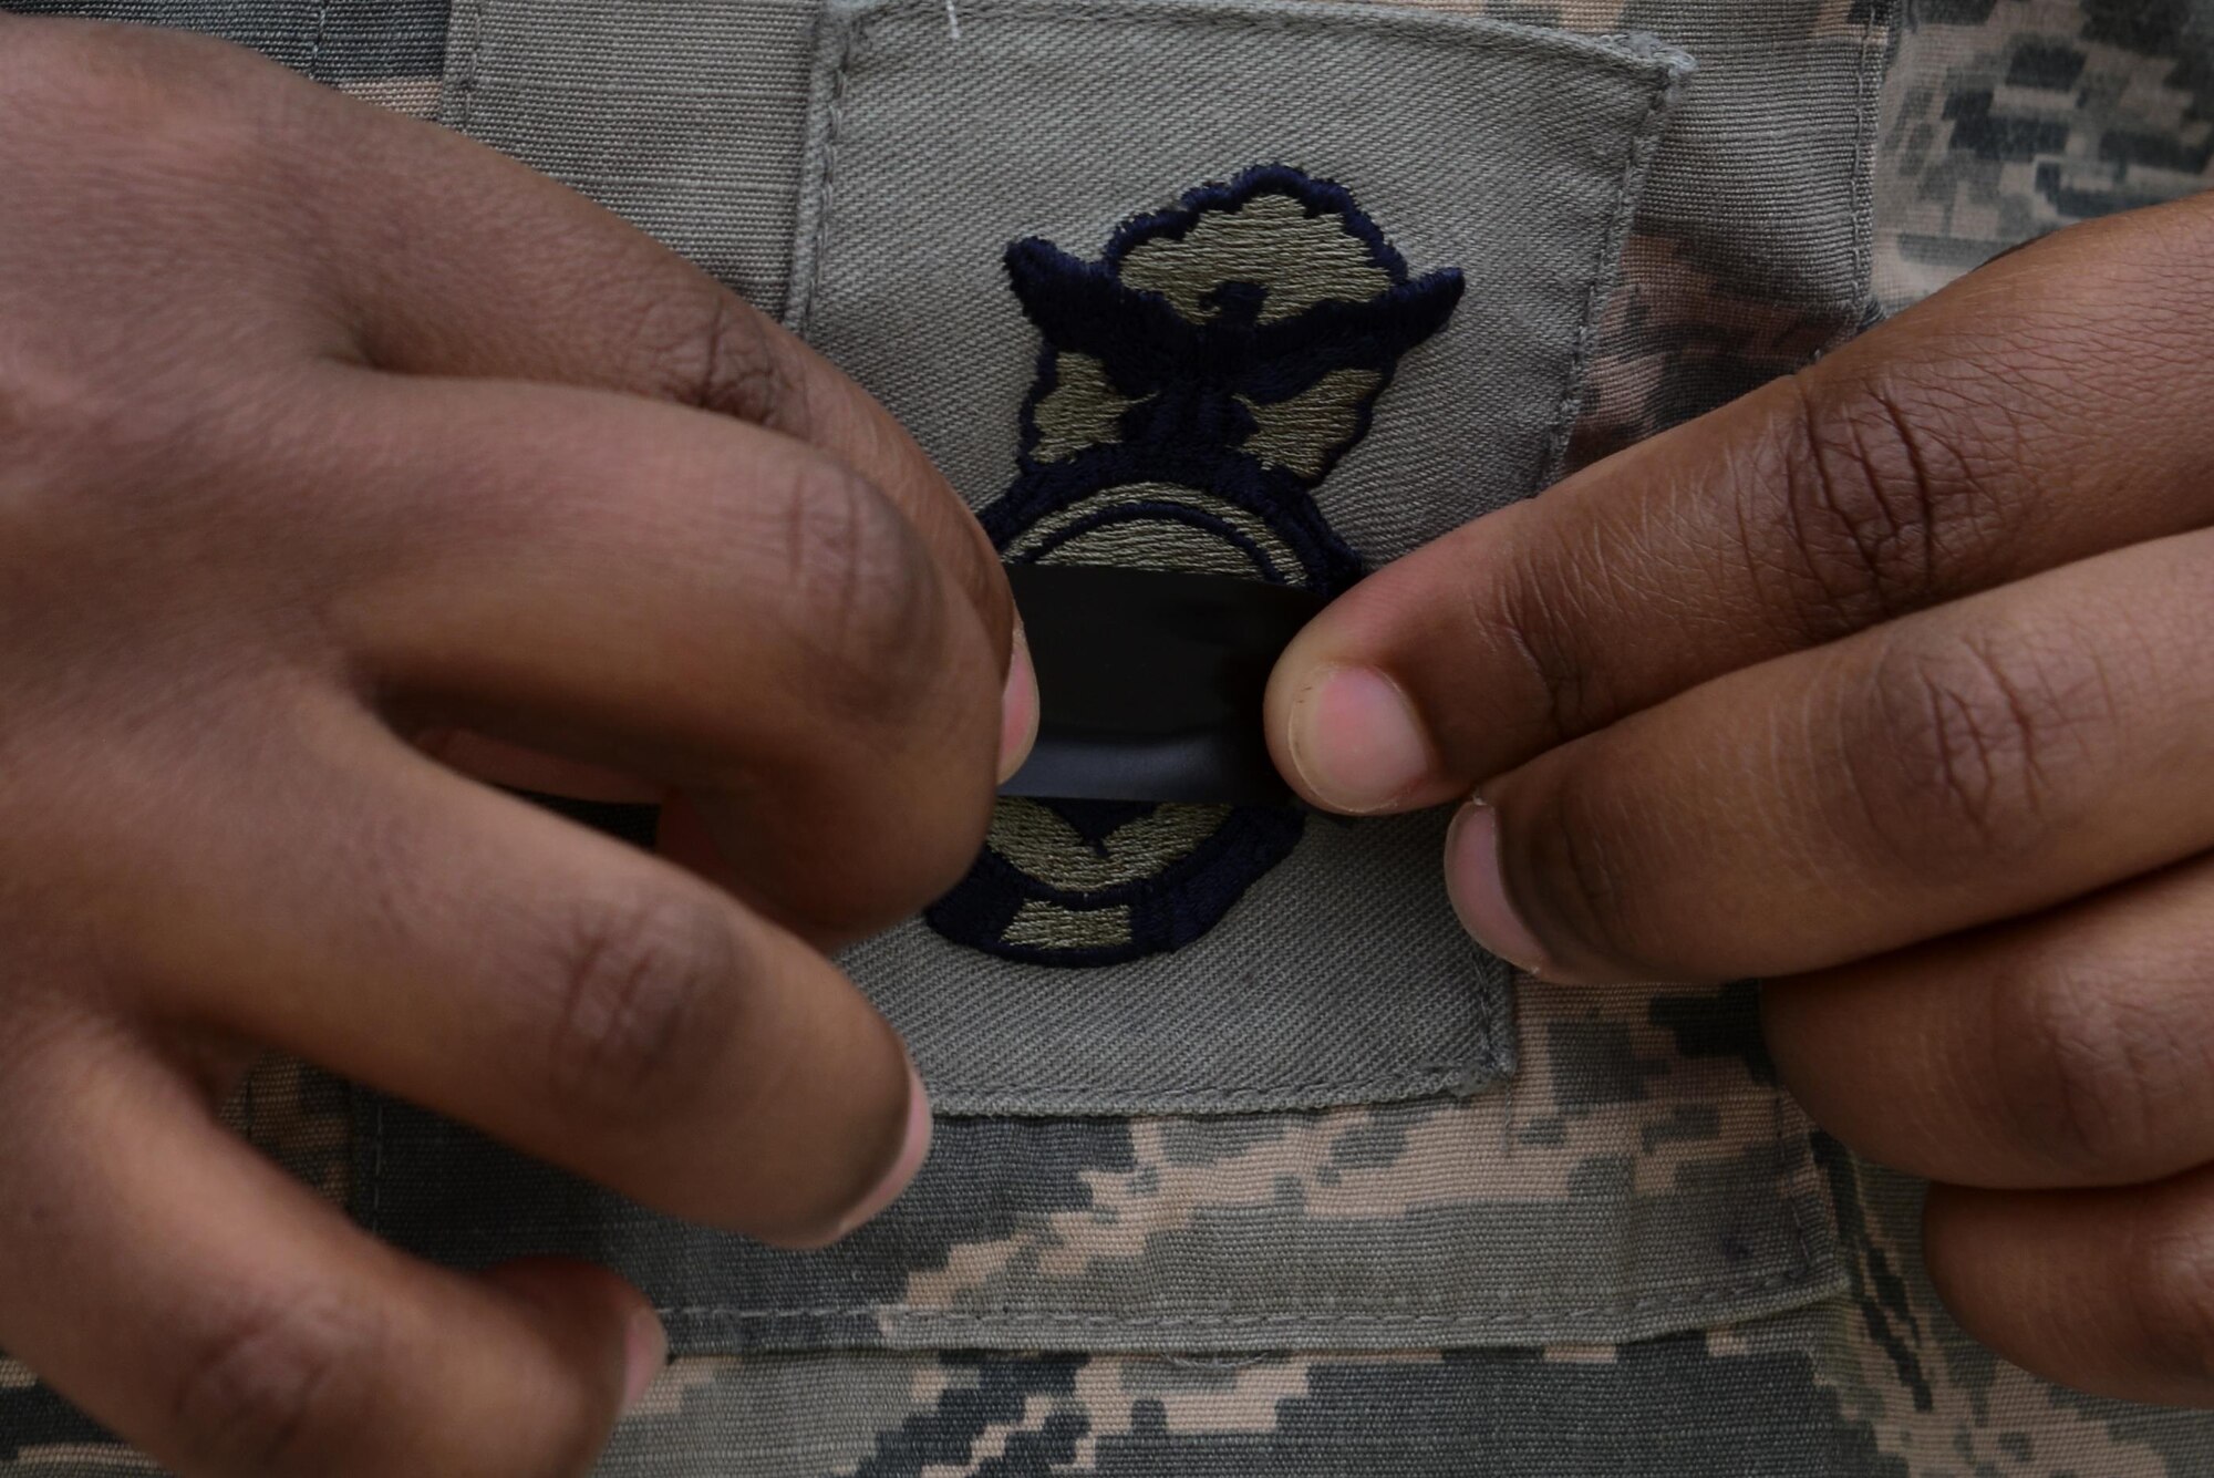
[[[830,0],[786,321],[1012,564],[1335,595],[1561,467],[1689,60],[1393,7]],[[1111,639],[1111,633],[1107,637]],[[945,1113],[1472,1093],[1444,812],[1010,799],[841,956]]]

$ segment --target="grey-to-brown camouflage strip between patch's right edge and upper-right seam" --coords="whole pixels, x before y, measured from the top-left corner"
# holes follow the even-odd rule
[[[1570,467],[1789,374],[1869,319],[1891,0],[1446,0],[1636,27],[1698,71],[1623,248]]]

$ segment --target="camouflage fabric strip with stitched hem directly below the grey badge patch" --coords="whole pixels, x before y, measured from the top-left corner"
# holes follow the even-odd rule
[[[908,1193],[826,1252],[646,1217],[376,1097],[352,1204],[447,1263],[613,1257],[680,1354],[1605,1343],[1846,1288],[1751,987],[1523,996],[1521,1071],[1466,1100],[941,1115]]]

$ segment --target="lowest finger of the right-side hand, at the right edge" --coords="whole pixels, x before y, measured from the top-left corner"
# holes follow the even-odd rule
[[[1931,1186],[1924,1259],[1962,1328],[2061,1385],[2214,1405],[2214,1168],[2125,1190]]]

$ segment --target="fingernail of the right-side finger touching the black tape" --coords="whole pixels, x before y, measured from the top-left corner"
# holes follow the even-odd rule
[[[1328,668],[1311,681],[1293,699],[1286,752],[1308,797],[1353,814],[1388,810],[1437,768],[1415,706],[1375,668]]]

